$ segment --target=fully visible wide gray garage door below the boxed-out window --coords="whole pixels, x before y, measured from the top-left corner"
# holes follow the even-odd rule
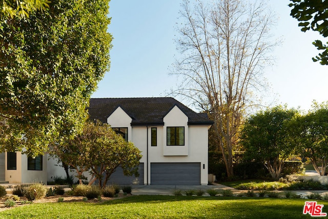
[[[151,185],[200,185],[200,163],[151,163]]]

